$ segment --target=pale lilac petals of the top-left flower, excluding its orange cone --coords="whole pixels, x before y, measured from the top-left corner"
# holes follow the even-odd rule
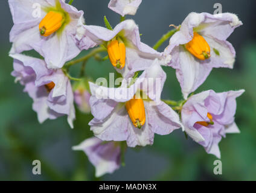
[[[48,68],[62,68],[65,62],[80,53],[81,50],[77,46],[80,42],[75,37],[80,33],[80,28],[82,28],[83,11],[78,11],[72,5],[66,4],[65,1],[59,0],[59,3],[71,17],[69,24],[63,28],[61,33],[57,31],[48,37],[40,36],[38,25],[46,15],[44,8],[55,7],[56,2],[58,1],[9,1],[14,21],[14,26],[10,33],[10,41],[13,42],[11,54],[35,49],[45,59]],[[36,17],[36,19],[33,16],[33,11],[36,8],[33,8],[34,4],[41,6],[40,17]],[[21,17],[21,19],[18,17]],[[85,46],[85,42],[83,42],[83,46]],[[59,54],[56,54],[56,51]]]

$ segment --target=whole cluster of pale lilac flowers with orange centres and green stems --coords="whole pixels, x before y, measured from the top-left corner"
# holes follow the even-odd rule
[[[213,68],[233,68],[235,49],[226,39],[242,22],[235,14],[190,13],[151,48],[141,42],[134,15],[142,0],[111,0],[109,8],[121,15],[112,28],[86,25],[83,11],[65,0],[8,0],[13,16],[10,57],[16,77],[33,99],[40,123],[67,116],[73,128],[75,107],[92,113],[93,138],[73,150],[83,150],[96,168],[96,176],[118,169],[127,147],[152,145],[155,134],[180,129],[207,153],[220,157],[219,142],[226,133],[239,133],[234,122],[235,99],[245,90],[194,94]],[[162,52],[157,49],[170,39]],[[73,60],[83,49],[91,52]],[[34,50],[40,58],[25,55]],[[106,52],[101,57],[100,52]],[[121,75],[120,85],[93,83],[86,76],[90,57],[109,59]],[[69,68],[82,62],[80,78]],[[176,70],[184,100],[162,100],[166,74]],[[72,84],[71,84],[72,82]],[[86,116],[86,115],[85,115]]]

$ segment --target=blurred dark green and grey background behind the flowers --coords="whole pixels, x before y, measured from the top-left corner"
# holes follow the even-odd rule
[[[25,0],[24,0],[25,1]],[[103,25],[106,15],[112,25],[119,16],[107,8],[106,0],[75,0],[74,5],[85,11],[88,25]],[[214,69],[197,92],[214,89],[216,92],[245,89],[237,99],[236,122],[240,134],[228,134],[220,142],[222,175],[214,175],[216,157],[186,140],[181,130],[168,136],[155,136],[152,147],[128,149],[126,166],[114,174],[95,179],[94,167],[85,154],[71,147],[92,135],[88,122],[91,115],[77,110],[75,128],[69,128],[66,118],[37,122],[31,109],[32,100],[14,84],[10,73],[12,59],[8,57],[8,33],[12,20],[7,0],[0,2],[0,180],[256,180],[256,36],[254,7],[251,1],[218,1],[223,12],[237,13],[243,26],[229,38],[237,51],[235,68]],[[139,25],[142,41],[153,44],[166,33],[168,25],[179,25],[191,11],[213,13],[215,1],[153,1],[143,0],[133,18]],[[167,45],[163,45],[161,49]],[[83,51],[80,56],[85,54]],[[79,56],[78,56],[79,57]],[[167,72],[162,98],[180,100],[181,91],[174,70]],[[114,72],[109,62],[89,60],[86,74],[92,78],[107,77]],[[73,70],[73,75],[77,71]],[[33,160],[42,163],[42,175],[32,174]]]

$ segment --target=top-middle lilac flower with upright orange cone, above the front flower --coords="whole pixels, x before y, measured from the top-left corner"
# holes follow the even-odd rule
[[[123,77],[148,68],[153,60],[162,59],[162,54],[141,42],[138,26],[133,20],[118,24],[114,30],[85,25],[85,39],[91,39],[95,46],[103,44],[109,59]]]

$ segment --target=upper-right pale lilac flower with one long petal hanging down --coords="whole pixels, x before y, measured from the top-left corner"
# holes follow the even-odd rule
[[[184,98],[194,92],[213,68],[233,68],[235,49],[226,41],[242,22],[235,14],[190,13],[170,39],[165,55],[176,69]]]

